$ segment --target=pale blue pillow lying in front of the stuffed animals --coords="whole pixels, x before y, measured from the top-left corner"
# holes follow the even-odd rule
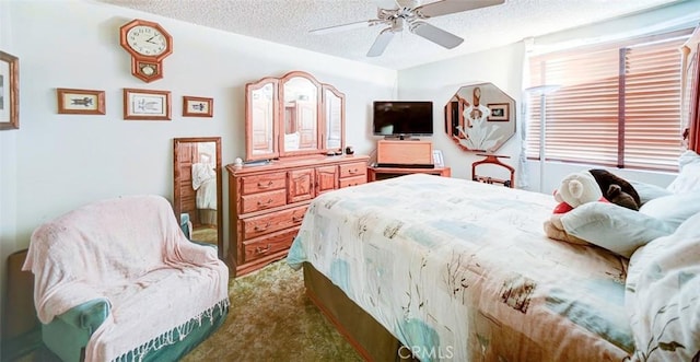
[[[609,202],[582,205],[563,214],[561,223],[570,235],[626,258],[638,247],[676,230],[663,220]]]

